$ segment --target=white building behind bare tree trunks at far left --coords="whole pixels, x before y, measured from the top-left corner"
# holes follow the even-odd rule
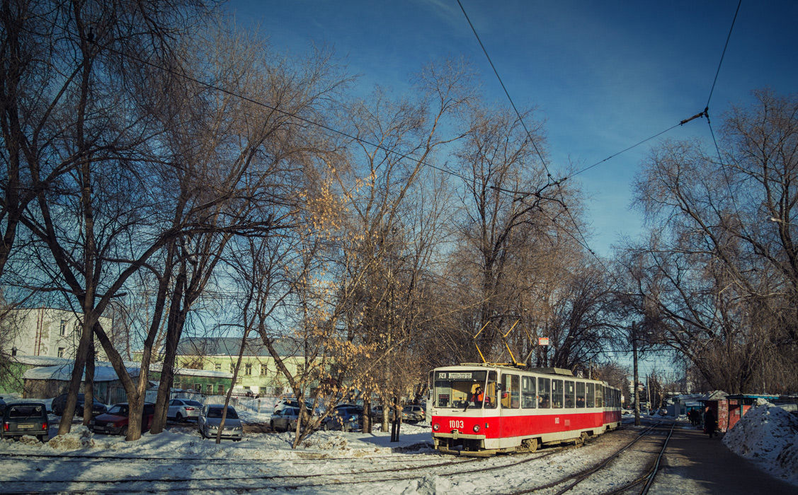
[[[0,352],[6,356],[49,356],[74,358],[81,340],[81,314],[54,308],[11,309],[0,320]],[[101,317],[110,329],[112,320]],[[95,340],[97,359],[107,360]]]

